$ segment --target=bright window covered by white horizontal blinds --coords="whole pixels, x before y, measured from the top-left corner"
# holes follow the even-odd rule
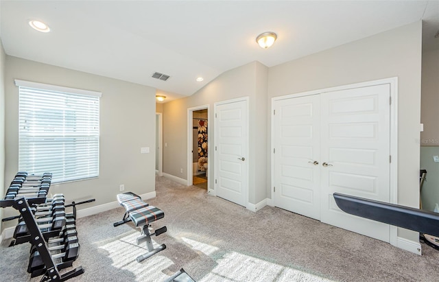
[[[99,176],[101,93],[15,80],[19,170],[51,172],[53,183]]]

